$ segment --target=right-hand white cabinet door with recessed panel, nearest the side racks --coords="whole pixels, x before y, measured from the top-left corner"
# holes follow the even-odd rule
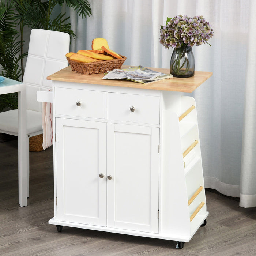
[[[159,128],[107,124],[108,227],[158,233],[158,144]]]

